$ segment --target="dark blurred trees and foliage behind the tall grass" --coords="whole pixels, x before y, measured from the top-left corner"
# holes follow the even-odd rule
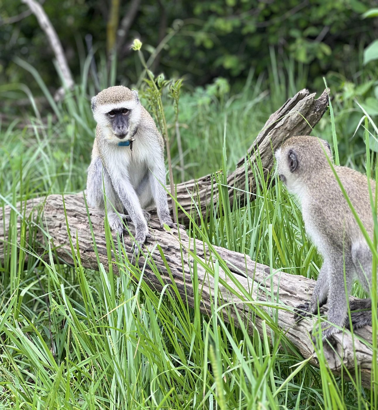
[[[154,72],[185,75],[187,83],[206,84],[215,77],[244,82],[250,68],[265,71],[271,65],[272,48],[278,56],[308,66],[311,80],[330,70],[348,77],[360,66],[363,48],[378,36],[376,19],[361,18],[376,4],[376,0],[49,0],[43,7],[77,79],[88,53],[83,39],[91,34],[97,59],[116,45],[118,82],[138,81],[142,68],[129,49],[133,39],[140,38],[144,52],[154,56],[149,63]],[[6,2],[0,11],[0,81],[29,82],[29,74],[14,64],[14,56],[27,59],[49,87],[59,87],[36,18],[19,2]],[[145,57],[148,62],[150,56]]]

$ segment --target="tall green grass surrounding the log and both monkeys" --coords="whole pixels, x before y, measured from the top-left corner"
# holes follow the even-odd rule
[[[251,77],[237,96],[215,96],[204,89],[182,93],[179,123],[186,179],[233,169],[269,114],[295,87],[293,76],[285,89],[282,73],[272,75],[270,92]],[[87,90],[83,80],[56,105],[55,116],[47,122],[41,123],[34,115],[26,126],[21,120],[2,125],[3,204],[85,187],[94,128]],[[174,110],[167,96],[164,102],[174,135]],[[333,112],[333,121],[326,113],[313,134],[337,141],[340,163],[366,172],[366,153],[371,151],[365,141],[370,141],[369,132],[374,134],[373,119],[363,121],[365,130],[361,128],[352,137],[356,122],[354,128],[345,128],[345,115],[358,113],[358,123],[362,110],[353,99],[337,94]],[[174,137],[171,146],[179,180]],[[372,155],[366,168],[373,176],[376,165]],[[260,178],[261,164],[253,166]],[[224,184],[222,173],[219,178]],[[213,244],[246,253],[272,271],[283,269],[317,278],[321,258],[305,235],[294,198],[279,181],[274,185],[263,181],[256,200],[246,207],[237,202],[230,207],[226,191],[226,187],[220,190],[217,205],[222,216],[215,217],[218,209],[213,209],[210,223],[189,232],[192,240],[197,238],[196,244],[203,237],[210,248]],[[127,259],[120,243],[111,239],[109,228],[108,257],[111,251],[116,255],[119,277],[106,272],[102,264],[95,271],[85,269],[75,241],[70,265],[56,260],[48,235],[45,253],[36,255],[33,232],[43,220],[30,225],[24,219],[19,230],[16,221],[13,211],[11,236],[4,243],[0,266],[1,408],[367,409],[376,405],[377,389],[369,392],[360,382],[348,380],[345,372],[343,377],[333,376],[321,352],[319,371],[303,361],[285,335],[269,330],[276,329],[274,301],[270,315],[253,305],[256,314],[264,315],[266,328],[262,335],[255,329],[251,336],[225,317],[228,313],[220,309],[223,301],[217,292],[208,317],[199,311],[200,295],[195,295],[195,307],[190,308],[174,297],[178,294],[174,284],[161,294],[152,291],[143,280],[144,267]],[[199,259],[195,253],[192,257],[192,280],[196,282]],[[233,275],[224,261],[214,257],[216,262],[206,270],[215,278],[217,289],[220,268],[230,278]],[[359,286],[354,294],[363,295]],[[377,353],[376,342],[374,348]],[[378,374],[377,366],[374,371]]]

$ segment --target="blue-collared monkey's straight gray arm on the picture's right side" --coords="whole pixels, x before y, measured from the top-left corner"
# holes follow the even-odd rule
[[[169,212],[167,192],[165,191],[165,166],[163,154],[150,166],[148,177],[161,225],[165,224],[172,228],[174,223]]]

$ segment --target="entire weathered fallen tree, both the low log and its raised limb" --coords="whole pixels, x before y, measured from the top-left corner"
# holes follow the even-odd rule
[[[288,100],[275,114],[272,114],[265,125],[265,129],[260,132],[256,141],[249,149],[248,157],[251,158],[251,161],[254,161],[256,152],[258,151],[264,169],[267,172],[271,170],[273,166],[272,147],[273,150],[276,149],[285,139],[292,135],[307,134],[310,131],[308,123],[313,127],[321,118],[327,104],[328,97],[326,91],[318,100],[315,100],[314,94],[309,95],[306,90],[300,91],[296,96]],[[285,118],[282,118],[283,116],[285,116]],[[308,123],[303,117],[307,119]],[[193,180],[177,185],[178,200],[185,210],[190,212],[192,206],[192,197],[188,194],[188,191],[200,194],[198,206],[201,208],[201,212],[206,210],[206,204],[217,200],[216,189],[214,190],[215,195],[213,197],[211,197],[210,194],[212,178],[213,175],[208,175],[197,181]],[[254,180],[250,169],[248,169],[248,178],[251,193],[253,193],[256,189],[256,183],[258,182]],[[240,160],[238,168],[228,176],[227,180],[230,186],[229,195],[232,201],[233,187],[243,187],[245,184],[244,159]],[[197,202],[197,195],[195,197]],[[67,195],[64,197],[64,200],[70,235],[74,243],[76,242],[77,235],[81,262],[88,268],[97,269],[97,258],[93,251],[93,242],[84,203],[84,194]],[[21,210],[20,205],[18,205],[20,212],[23,212],[23,209],[24,208]],[[43,212],[43,217],[40,220],[44,221],[43,228],[45,228],[53,238],[58,257],[67,263],[72,263],[62,197],[59,195],[50,195],[47,198],[28,200],[25,216],[28,217],[28,215],[35,214],[37,211]],[[3,227],[5,226],[6,230],[9,227],[10,212],[11,208],[6,206],[5,214],[2,215],[2,217],[0,216],[0,259],[3,259],[4,256],[4,244],[7,238],[7,232],[3,232]],[[181,213],[180,216],[183,218],[184,214]],[[95,210],[90,210],[90,217],[100,262],[104,264],[104,266],[108,266],[104,235],[104,217]],[[184,218],[184,220],[187,221],[186,218]],[[157,291],[161,291],[163,286],[151,268],[152,264],[154,264],[161,273],[164,283],[172,283],[171,278],[173,278],[174,284],[177,285],[179,289],[180,296],[191,307],[194,307],[194,295],[201,292],[200,309],[204,314],[208,314],[211,312],[210,306],[214,300],[214,278],[211,275],[211,272],[213,272],[211,266],[215,259],[220,257],[226,263],[227,268],[220,269],[218,292],[220,292],[223,301],[233,302],[229,303],[227,309],[231,311],[231,317],[235,320],[236,326],[238,326],[238,319],[235,309],[238,310],[240,317],[252,334],[252,315],[250,314],[252,307],[251,304],[246,302],[274,302],[278,295],[279,308],[274,308],[269,311],[266,305],[261,304],[259,307],[265,310],[267,314],[276,312],[278,328],[285,332],[286,337],[299,349],[304,358],[311,358],[310,362],[315,366],[317,365],[317,360],[313,355],[312,342],[309,337],[313,321],[304,319],[301,323],[295,324],[292,313],[293,306],[310,299],[315,285],[314,280],[304,278],[303,276],[294,276],[285,272],[272,274],[268,266],[258,264],[246,255],[217,246],[214,246],[213,249],[209,249],[206,245],[202,244],[201,241],[197,240],[196,255],[199,257],[200,263],[197,263],[197,271],[195,272],[198,277],[198,288],[194,288],[191,280],[194,271],[192,266],[192,255],[194,253],[193,241],[189,241],[186,232],[183,230],[180,230],[180,236],[176,231],[173,231],[173,234],[172,232],[165,232],[160,228],[159,221],[154,218],[150,221],[150,230],[152,237],[144,248],[146,255],[148,255],[146,252],[147,249],[150,253],[150,255],[147,256],[144,279],[151,287]],[[134,231],[132,225],[131,231]],[[43,244],[44,238],[42,230],[37,236],[35,243],[39,241]],[[125,235],[124,243],[130,259],[132,257],[129,251],[131,242],[131,238]],[[155,246],[156,243],[161,247],[165,261]],[[34,252],[38,251],[40,250],[34,249]],[[140,255],[139,266],[142,266],[144,263],[144,258],[144,255]],[[113,264],[113,262],[114,260],[111,263]],[[169,267],[169,272],[167,271],[165,263],[167,263]],[[208,266],[208,269],[205,268],[206,266]],[[113,271],[117,271],[117,264],[113,264]],[[235,285],[235,281],[231,280],[231,276],[239,283],[239,287]],[[227,287],[225,284],[227,284]],[[227,314],[224,314],[224,318],[227,320]],[[254,326],[260,331],[260,334],[262,334],[262,322],[263,318],[257,315],[254,317]],[[355,333],[371,342],[371,327],[366,326]],[[353,346],[349,333],[336,335],[335,338],[337,340],[336,353],[333,349],[327,348],[326,345],[324,346],[324,354],[326,355],[331,371],[339,374],[342,364],[344,364],[351,374],[353,374],[355,369],[354,360],[356,360],[358,368],[361,371],[362,383],[370,387],[371,362],[373,359],[371,349],[356,338],[354,338]]]

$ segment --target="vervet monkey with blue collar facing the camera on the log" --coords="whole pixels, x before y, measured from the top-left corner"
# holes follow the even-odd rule
[[[174,226],[165,191],[163,138],[140,104],[138,91],[109,87],[91,103],[97,127],[88,168],[88,204],[105,210],[104,186],[110,228],[122,235],[122,219],[133,221],[135,241],[142,245],[150,236],[144,210],[152,203],[161,225]]]

